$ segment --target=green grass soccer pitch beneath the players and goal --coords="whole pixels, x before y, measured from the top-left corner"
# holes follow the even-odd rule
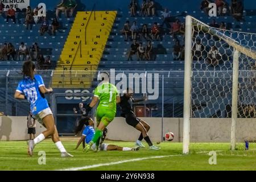
[[[182,155],[182,143],[157,144],[159,151],[148,147],[139,151],[89,151],[74,150],[79,138],[62,137],[64,146],[73,158],[60,158],[60,153],[50,139],[35,147],[32,157],[27,155],[26,141],[0,142],[1,170],[255,170],[256,144],[250,143],[245,151],[238,143],[238,150],[230,151],[229,143],[191,143],[191,154]],[[133,147],[134,142],[106,141],[119,146]],[[146,143],[144,143],[146,145]],[[46,152],[46,164],[39,151]],[[217,164],[209,164],[209,151],[216,151]],[[97,164],[97,165],[95,165]],[[107,167],[106,167],[107,166]]]

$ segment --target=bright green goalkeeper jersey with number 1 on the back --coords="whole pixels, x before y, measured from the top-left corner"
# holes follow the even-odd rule
[[[97,86],[94,96],[98,97],[100,100],[100,104],[98,105],[98,109],[108,109],[117,111],[116,98],[118,96],[118,90],[109,82],[102,83]]]

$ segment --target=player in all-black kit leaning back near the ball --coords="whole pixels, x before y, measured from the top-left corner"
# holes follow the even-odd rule
[[[136,141],[137,146],[144,148],[141,142],[142,139],[144,138],[148,146],[150,146],[151,150],[159,150],[160,148],[152,144],[147,134],[147,131],[150,129],[150,126],[142,119],[137,118],[133,110],[133,102],[141,102],[146,99],[147,97],[144,97],[142,100],[135,100],[133,98],[133,90],[127,88],[126,93],[123,94],[123,96],[121,97],[121,102],[119,103],[122,109],[121,115],[125,118],[125,121],[128,125],[133,126],[135,129],[141,131],[141,135],[139,135],[139,138]]]

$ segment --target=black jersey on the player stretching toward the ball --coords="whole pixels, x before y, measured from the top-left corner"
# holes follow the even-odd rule
[[[133,98],[126,97],[123,95],[120,97],[120,106],[122,109],[122,117],[125,117],[125,115],[135,115],[133,110]]]

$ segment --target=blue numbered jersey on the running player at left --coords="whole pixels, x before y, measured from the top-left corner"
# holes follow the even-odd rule
[[[34,80],[24,77],[16,89],[16,92],[23,93],[30,102],[30,110],[33,115],[49,107],[46,98],[40,93],[40,86],[44,86],[43,78],[40,75],[35,75]]]

